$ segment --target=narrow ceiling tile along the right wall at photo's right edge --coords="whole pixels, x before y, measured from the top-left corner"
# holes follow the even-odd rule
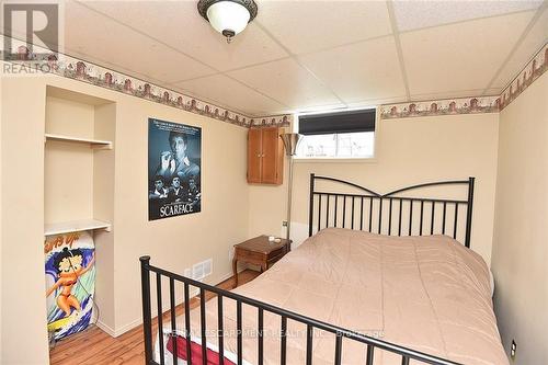
[[[504,88],[509,84],[547,42],[548,7],[545,7],[543,13],[501,70],[492,87]]]

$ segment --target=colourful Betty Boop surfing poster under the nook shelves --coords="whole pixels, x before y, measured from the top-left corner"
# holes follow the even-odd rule
[[[95,248],[88,232],[46,237],[47,328],[60,340],[91,322],[95,290]]]

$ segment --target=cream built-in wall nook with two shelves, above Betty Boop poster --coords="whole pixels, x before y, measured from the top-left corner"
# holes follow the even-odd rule
[[[47,88],[45,236],[111,230],[115,124],[114,102]]]

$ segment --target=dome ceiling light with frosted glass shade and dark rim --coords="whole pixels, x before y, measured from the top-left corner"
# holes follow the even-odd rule
[[[253,0],[199,0],[198,12],[213,28],[227,37],[243,31],[256,16],[256,3]]]

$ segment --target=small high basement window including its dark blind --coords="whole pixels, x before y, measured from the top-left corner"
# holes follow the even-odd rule
[[[304,135],[299,159],[367,159],[375,147],[376,110],[345,111],[298,116]]]

